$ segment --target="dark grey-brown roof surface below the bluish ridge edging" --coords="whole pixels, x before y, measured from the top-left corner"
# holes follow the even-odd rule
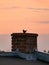
[[[0,57],[0,65],[49,65],[43,61],[26,61],[19,58]]]

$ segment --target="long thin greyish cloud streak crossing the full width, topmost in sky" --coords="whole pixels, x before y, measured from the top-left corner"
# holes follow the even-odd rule
[[[18,6],[12,6],[12,7],[0,7],[0,9],[18,9],[18,8],[22,8],[22,9],[29,9],[29,10],[34,10],[34,11],[49,11],[49,8],[31,8],[31,7],[18,7]]]

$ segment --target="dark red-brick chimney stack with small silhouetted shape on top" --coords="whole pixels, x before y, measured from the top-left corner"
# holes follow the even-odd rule
[[[37,49],[37,36],[35,33],[12,33],[12,51],[17,49],[24,53],[32,53],[34,49]]]

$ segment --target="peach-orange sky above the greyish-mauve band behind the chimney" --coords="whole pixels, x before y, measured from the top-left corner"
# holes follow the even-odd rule
[[[49,34],[49,0],[0,0],[0,34]]]

